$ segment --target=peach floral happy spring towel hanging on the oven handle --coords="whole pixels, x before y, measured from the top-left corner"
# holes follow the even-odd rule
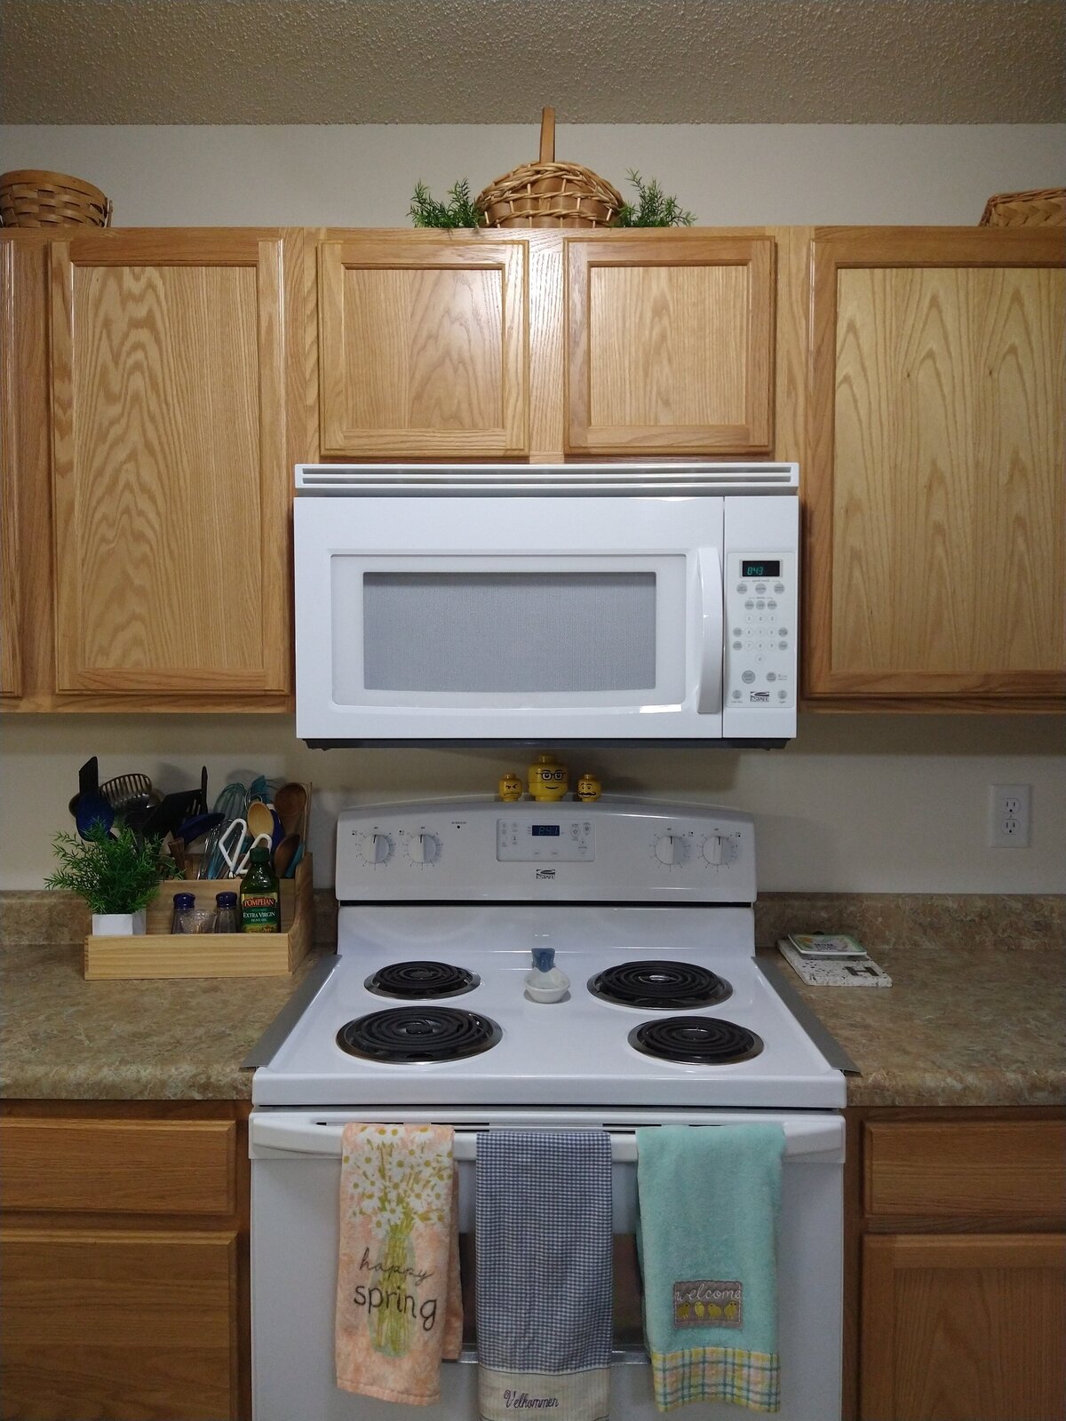
[[[441,1400],[462,1346],[455,1131],[345,1125],[337,1266],[337,1385],[382,1401]]]

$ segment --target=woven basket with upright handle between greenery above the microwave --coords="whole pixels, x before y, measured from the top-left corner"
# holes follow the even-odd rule
[[[610,227],[621,193],[580,163],[556,162],[556,111],[540,119],[540,161],[493,179],[478,196],[486,227]]]

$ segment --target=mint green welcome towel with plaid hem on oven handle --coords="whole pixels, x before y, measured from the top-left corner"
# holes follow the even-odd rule
[[[655,1405],[780,1410],[780,1125],[637,1131],[644,1337]]]

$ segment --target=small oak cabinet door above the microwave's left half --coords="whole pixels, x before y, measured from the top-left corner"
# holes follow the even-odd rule
[[[529,450],[527,243],[352,234],[318,246],[323,458]]]

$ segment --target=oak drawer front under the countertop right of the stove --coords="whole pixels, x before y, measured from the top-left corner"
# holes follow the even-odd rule
[[[1066,1219],[1066,1123],[871,1121],[864,1206],[895,1219]]]

